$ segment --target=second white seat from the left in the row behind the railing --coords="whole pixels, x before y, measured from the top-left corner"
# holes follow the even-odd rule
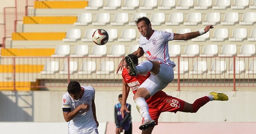
[[[69,65],[67,61],[64,61],[63,69],[59,71],[60,74],[73,74],[77,71],[77,61],[70,61]]]

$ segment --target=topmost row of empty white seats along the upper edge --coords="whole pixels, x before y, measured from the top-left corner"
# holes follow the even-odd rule
[[[103,7],[103,0],[92,0],[85,9],[87,10],[98,10],[103,7],[105,10],[115,10],[117,8],[123,10],[135,10],[139,8],[141,10],[152,10],[158,8],[163,9],[190,9],[194,7],[195,9],[208,9],[212,7],[213,9],[226,9],[230,7],[231,9],[245,9],[249,7],[255,9],[256,2],[253,0],[253,4],[249,6],[249,0],[234,0],[234,4],[230,4],[230,0],[216,0],[215,5],[212,4],[212,0],[197,0],[197,5],[194,6],[194,0],[179,0],[176,6],[176,0],[161,0],[161,4],[158,5],[158,0],[144,0],[143,5],[139,5],[139,0],[125,0],[124,6],[121,7],[121,0],[108,0],[107,6]],[[213,6],[212,6],[213,5]]]

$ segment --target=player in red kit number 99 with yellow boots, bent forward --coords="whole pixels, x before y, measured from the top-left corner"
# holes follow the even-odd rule
[[[128,55],[134,62],[134,64],[138,64],[138,58],[134,54]],[[124,117],[124,111],[129,112],[126,107],[126,100],[129,94],[130,89],[132,89],[133,94],[137,92],[140,84],[143,83],[151,74],[150,72],[139,74],[137,76],[130,76],[129,75],[129,67],[125,66],[122,71],[123,77],[123,96],[122,96],[122,103],[121,103],[121,113]],[[218,94],[218,93],[217,93]],[[142,130],[142,134],[151,134],[154,126],[158,125],[158,118],[161,112],[197,112],[203,105],[208,103],[210,100],[217,100],[216,96],[208,95],[201,98],[198,98],[194,101],[193,104],[185,102],[176,97],[172,97],[167,95],[164,91],[160,90],[156,94],[154,94],[149,99],[146,99],[146,102],[149,107],[149,114],[152,120],[156,122],[156,124],[152,124],[152,126],[147,127],[146,129]],[[142,119],[142,124],[144,122],[144,118]]]

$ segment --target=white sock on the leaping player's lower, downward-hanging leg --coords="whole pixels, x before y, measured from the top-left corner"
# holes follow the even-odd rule
[[[151,119],[146,100],[142,97],[139,97],[135,99],[134,102],[136,103],[136,108],[139,111],[140,115],[144,118],[144,120]]]

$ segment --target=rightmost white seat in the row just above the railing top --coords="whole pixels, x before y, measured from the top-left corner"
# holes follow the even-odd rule
[[[255,52],[256,47],[254,44],[245,44],[241,46],[240,54],[237,54],[237,56],[253,56]]]

